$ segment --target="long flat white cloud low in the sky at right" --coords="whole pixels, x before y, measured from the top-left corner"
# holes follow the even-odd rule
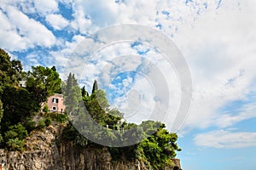
[[[256,146],[256,133],[225,130],[201,133],[195,136],[196,145],[217,149],[236,149]]]

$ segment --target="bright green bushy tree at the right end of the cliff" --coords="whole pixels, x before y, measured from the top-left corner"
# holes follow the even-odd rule
[[[169,133],[160,122],[143,122],[142,126],[148,138],[138,144],[137,158],[147,160],[155,169],[172,166],[170,159],[176,156],[176,151],[181,150],[176,143],[177,134]],[[148,135],[149,132],[151,135]]]

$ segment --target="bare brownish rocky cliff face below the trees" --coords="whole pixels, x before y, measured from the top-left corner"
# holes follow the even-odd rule
[[[26,151],[0,150],[0,170],[148,170],[141,161],[112,161],[107,149],[83,149],[55,140],[56,129],[31,133]],[[166,168],[169,169],[169,168]],[[178,167],[177,169],[180,169]]]

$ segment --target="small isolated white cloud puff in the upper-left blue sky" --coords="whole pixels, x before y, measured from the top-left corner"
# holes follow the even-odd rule
[[[46,16],[45,20],[49,22],[49,24],[55,30],[61,30],[68,25],[68,21],[64,19],[61,14],[49,14]]]

